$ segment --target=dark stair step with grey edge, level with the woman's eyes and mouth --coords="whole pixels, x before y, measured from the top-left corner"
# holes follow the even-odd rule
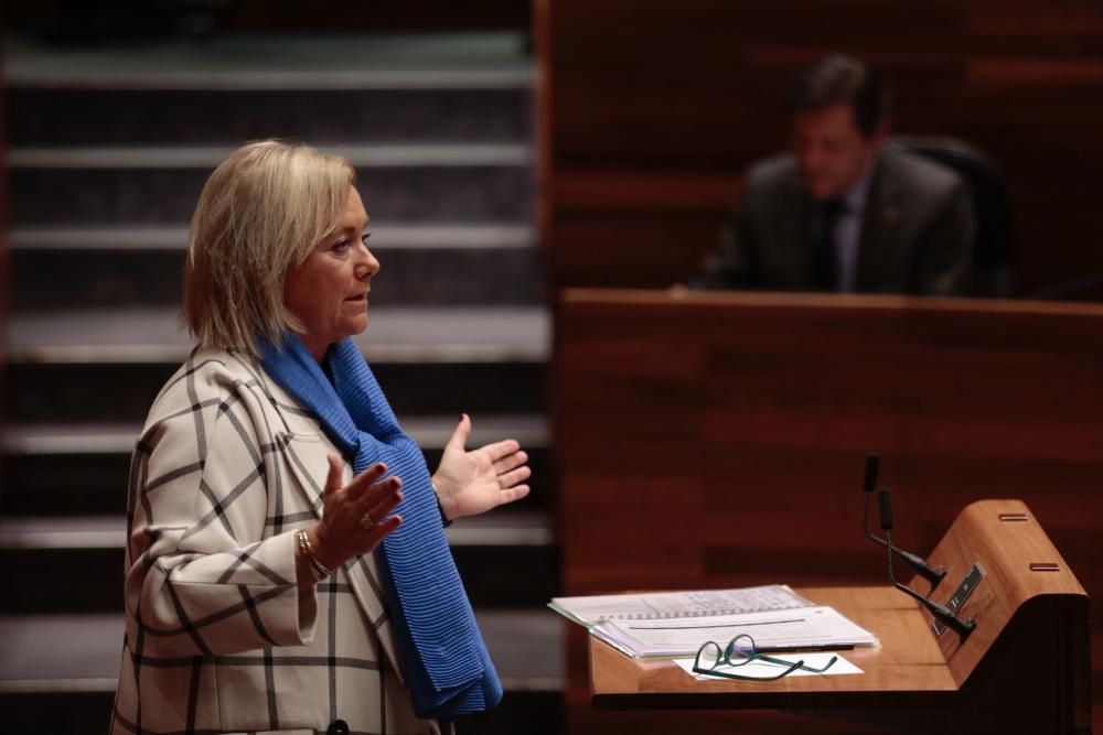
[[[38,227],[9,236],[17,312],[178,306],[184,227]],[[393,306],[535,305],[543,268],[524,225],[372,227],[383,264],[373,303]]]

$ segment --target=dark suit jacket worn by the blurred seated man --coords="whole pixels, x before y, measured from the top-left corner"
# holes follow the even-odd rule
[[[960,293],[975,230],[964,182],[949,169],[891,145],[874,165],[858,238],[856,290]],[[731,239],[690,287],[815,290],[813,206],[791,154],[756,164],[747,176]]]

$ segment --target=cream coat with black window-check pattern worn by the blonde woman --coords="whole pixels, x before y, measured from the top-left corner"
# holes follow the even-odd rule
[[[293,531],[321,516],[330,452],[245,354],[196,350],[164,386],[130,465],[113,734],[440,733],[403,685],[374,554],[300,597]]]

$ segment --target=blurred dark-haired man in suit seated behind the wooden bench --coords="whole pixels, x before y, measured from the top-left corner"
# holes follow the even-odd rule
[[[960,293],[970,192],[886,142],[880,75],[832,55],[797,78],[791,102],[792,152],[750,169],[732,237],[690,288]]]

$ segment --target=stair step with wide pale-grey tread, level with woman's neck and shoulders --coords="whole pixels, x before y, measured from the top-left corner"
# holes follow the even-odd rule
[[[373,305],[371,315],[356,342],[399,418],[544,411],[546,309]],[[191,348],[169,309],[17,313],[8,331],[6,419],[140,424]]]

